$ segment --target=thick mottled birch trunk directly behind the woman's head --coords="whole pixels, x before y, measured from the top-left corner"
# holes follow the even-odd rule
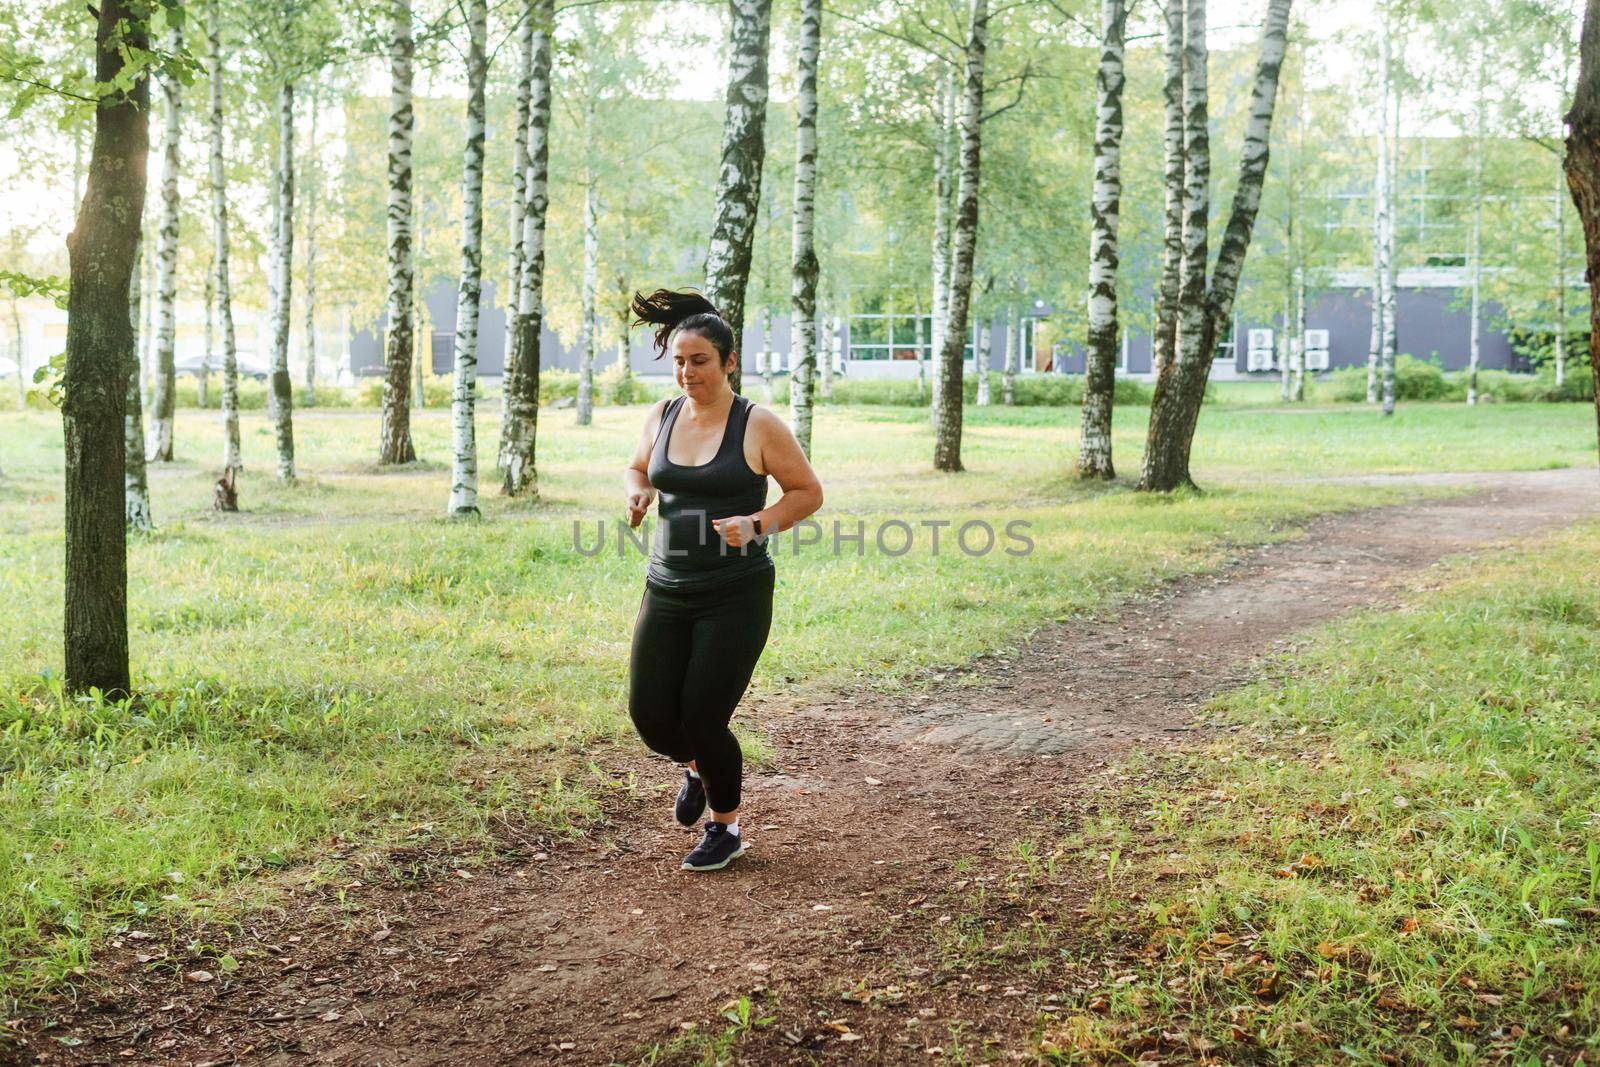
[[[755,211],[762,202],[762,165],[766,160],[766,54],[773,35],[773,0],[728,0],[728,10],[733,16],[728,109],[722,128],[717,214],[706,253],[706,296],[728,320],[733,344],[739,347]],[[734,392],[742,384],[741,371],[734,366],[728,376]]]

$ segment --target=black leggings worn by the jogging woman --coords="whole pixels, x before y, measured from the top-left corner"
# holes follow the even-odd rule
[[[718,589],[645,585],[627,670],[627,710],[646,745],[694,760],[712,811],[739,809],[744,755],[728,720],[773,625],[768,568]]]

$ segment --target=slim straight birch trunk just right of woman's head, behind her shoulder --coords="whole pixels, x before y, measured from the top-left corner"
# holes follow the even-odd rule
[[[816,390],[816,74],[822,53],[822,0],[800,0],[795,72],[795,200],[789,291],[789,426],[811,456]],[[922,333],[922,317],[917,318]],[[917,349],[922,373],[922,347]]]

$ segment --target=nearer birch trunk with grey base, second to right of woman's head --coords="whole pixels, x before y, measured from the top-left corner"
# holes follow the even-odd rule
[[[962,99],[960,192],[950,253],[950,317],[939,354],[939,418],[933,466],[962,470],[962,357],[971,333],[973,262],[978,254],[978,181],[982,162],[984,53],[989,46],[989,0],[971,0],[966,29],[966,86]]]

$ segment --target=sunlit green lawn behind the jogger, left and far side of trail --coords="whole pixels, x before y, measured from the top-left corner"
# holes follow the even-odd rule
[[[493,456],[498,405],[485,410]],[[298,413],[294,486],[272,478],[270,429],[246,413],[238,515],[208,510],[214,413],[181,411],[179,461],[152,469],[160,530],[131,549],[133,707],[59,693],[59,416],[0,414],[0,995],[70,981],[128,923],[259,904],[270,872],[334,877],[341,843],[486,848],[498,821],[590,825],[595,745],[627,729],[643,558],[614,550],[614,518],[643,414],[600,408],[579,430],[546,411],[541,501],[490,485],[485,522],[453,525],[443,411],[418,414],[424,462],[392,472],[371,466],[376,411]],[[1118,413],[1125,474],[1144,418]],[[1414,405],[1387,424],[1214,405],[1195,451],[1208,493],[1146,499],[1070,482],[1077,419],[973,410],[968,470],[950,477],[930,469],[920,413],[821,411],[819,518],[867,523],[867,549],[781,545],[754,691],[899,685],[1213,566],[1227,542],[1400,494],[1306,475],[1594,462],[1578,405]],[[1034,549],[965,555],[952,526],[938,555],[923,528],[912,552],[880,555],[870,531],[894,518],[1024,520]],[[605,522],[606,550],[579,552],[574,522],[586,542]]]

